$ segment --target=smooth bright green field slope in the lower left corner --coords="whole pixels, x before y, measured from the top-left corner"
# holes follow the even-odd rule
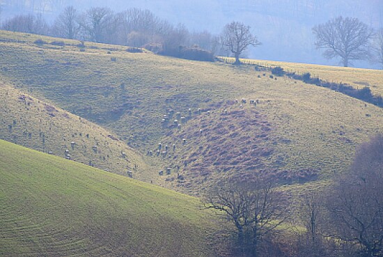
[[[0,141],[0,256],[213,256],[196,198]]]

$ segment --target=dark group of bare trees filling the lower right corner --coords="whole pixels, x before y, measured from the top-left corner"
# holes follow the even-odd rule
[[[233,224],[238,256],[382,257],[383,135],[361,144],[349,171],[322,192],[307,192],[297,210],[283,201],[261,178],[220,180],[205,195],[205,206]],[[287,221],[300,228],[282,231]]]

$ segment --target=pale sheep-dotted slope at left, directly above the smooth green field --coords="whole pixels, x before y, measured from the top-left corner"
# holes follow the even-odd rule
[[[0,82],[0,139],[106,171],[150,180],[150,167],[116,134]]]

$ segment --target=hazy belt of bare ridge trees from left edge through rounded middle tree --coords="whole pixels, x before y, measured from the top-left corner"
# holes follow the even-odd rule
[[[250,46],[260,42],[241,22],[227,24],[221,35],[190,32],[185,25],[170,24],[150,10],[130,8],[115,13],[107,7],[79,13],[66,7],[52,25],[41,15],[17,15],[3,22],[2,29],[77,40],[145,47],[157,54],[198,61],[214,61],[215,54],[235,56],[235,63]]]

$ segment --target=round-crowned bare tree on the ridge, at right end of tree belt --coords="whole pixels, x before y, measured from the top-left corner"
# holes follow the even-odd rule
[[[241,22],[231,22],[226,24],[221,34],[221,42],[226,49],[235,56],[235,64],[240,64],[240,55],[249,46],[256,47],[260,42],[250,32],[250,26]]]

